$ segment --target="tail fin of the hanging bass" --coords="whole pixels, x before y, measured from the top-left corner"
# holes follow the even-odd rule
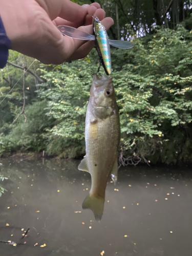
[[[82,202],[82,208],[90,209],[93,211],[96,221],[100,221],[103,214],[104,198],[94,197],[90,194]]]

